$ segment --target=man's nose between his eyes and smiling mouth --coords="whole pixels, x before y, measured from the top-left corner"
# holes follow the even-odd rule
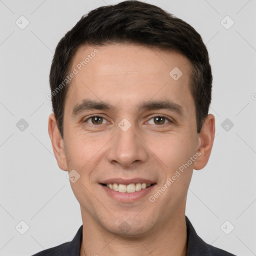
[[[107,160],[122,167],[131,167],[135,162],[145,162],[148,158],[143,138],[138,135],[134,125],[127,130],[116,126],[116,135],[110,141],[107,150]]]

